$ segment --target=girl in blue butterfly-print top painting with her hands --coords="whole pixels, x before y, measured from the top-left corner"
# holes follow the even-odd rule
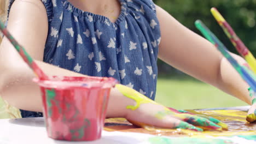
[[[47,75],[114,77],[154,100],[160,58],[251,104],[248,85],[215,47],[150,0],[15,0],[9,8],[9,31]],[[0,55],[2,97],[19,109],[42,111],[32,71],[5,38]],[[201,120],[214,125],[201,117],[168,111],[153,101],[126,109],[136,101],[119,88],[110,92],[107,117],[165,128],[201,130],[190,125],[200,125]],[[22,111],[24,117],[27,114]],[[191,118],[199,121],[186,120]]]

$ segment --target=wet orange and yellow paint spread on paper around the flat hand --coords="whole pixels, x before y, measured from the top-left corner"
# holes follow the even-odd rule
[[[145,133],[152,134],[157,136],[189,136],[189,137],[205,137],[205,136],[234,136],[234,135],[243,135],[252,137],[253,140],[256,140],[256,124],[248,123],[246,121],[246,115],[248,109],[245,111],[241,110],[233,110],[232,109],[220,109],[220,110],[187,110],[190,113],[194,113],[194,115],[207,115],[209,117],[213,117],[215,119],[219,119],[221,122],[225,122],[228,125],[228,130],[225,131],[217,131],[217,130],[204,130],[204,131],[195,131],[188,129],[163,129],[163,128],[155,128],[155,127],[145,127],[145,128],[137,128],[131,125],[126,121],[126,119],[120,118],[111,118],[106,119],[107,123],[112,123],[117,125],[109,125],[105,127],[104,130],[107,131],[123,131],[123,132],[135,132],[135,133]],[[237,108],[236,108],[237,109]]]

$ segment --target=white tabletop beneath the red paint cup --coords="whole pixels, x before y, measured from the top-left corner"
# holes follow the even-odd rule
[[[248,106],[245,107],[230,107],[230,110],[240,110],[247,111]],[[205,109],[208,110],[223,110],[227,108],[218,109]],[[143,133],[131,133],[131,132],[121,132],[121,131],[102,131],[102,138],[96,141],[89,142],[69,142],[69,141],[58,141],[50,139],[47,136],[44,118],[19,118],[19,119],[0,119],[0,143],[10,144],[10,143],[152,143],[148,140],[152,137],[157,137],[155,135],[143,134]],[[176,139],[177,137],[166,137],[168,139]],[[216,137],[209,137],[210,139],[217,139]],[[178,138],[177,138],[178,139]],[[191,138],[192,139],[192,138]],[[228,137],[223,137],[222,139],[231,139]],[[237,143],[256,143],[255,140],[242,139],[241,137],[232,137],[232,140]]]

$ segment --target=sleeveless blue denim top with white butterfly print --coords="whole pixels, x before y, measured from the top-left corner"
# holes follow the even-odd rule
[[[154,100],[161,40],[155,5],[151,0],[119,1],[121,13],[113,23],[66,0],[42,0],[49,21],[43,61],[89,76],[114,77]],[[22,116],[38,115],[22,111]]]

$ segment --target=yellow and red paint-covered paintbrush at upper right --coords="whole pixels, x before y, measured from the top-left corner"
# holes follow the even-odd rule
[[[256,73],[256,60],[252,53],[248,50],[245,44],[243,44],[242,40],[237,37],[232,27],[229,25],[228,22],[226,22],[226,20],[219,13],[219,11],[216,8],[212,8],[211,12],[215,19],[218,21],[220,27],[222,27],[223,31],[230,39],[231,43],[236,47],[236,50],[240,53],[241,56],[246,59],[254,73]]]

